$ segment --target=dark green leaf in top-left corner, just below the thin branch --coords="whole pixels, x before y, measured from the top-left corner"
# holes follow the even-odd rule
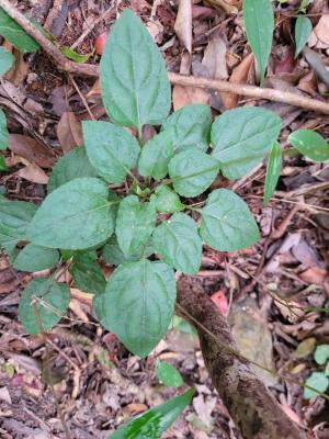
[[[13,44],[20,52],[27,54],[38,49],[39,45],[32,36],[12,20],[4,11],[0,8],[0,35]]]

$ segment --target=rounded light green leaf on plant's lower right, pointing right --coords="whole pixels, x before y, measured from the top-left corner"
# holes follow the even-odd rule
[[[247,203],[227,189],[213,191],[201,214],[201,237],[216,250],[236,251],[252,246],[260,237]]]

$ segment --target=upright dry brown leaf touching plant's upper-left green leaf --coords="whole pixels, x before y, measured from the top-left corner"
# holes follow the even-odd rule
[[[56,133],[64,154],[83,144],[81,122],[71,111],[63,113]]]

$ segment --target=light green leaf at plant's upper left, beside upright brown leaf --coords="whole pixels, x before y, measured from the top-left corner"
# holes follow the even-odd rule
[[[135,137],[109,122],[84,121],[83,139],[88,158],[110,183],[123,183],[137,166],[140,147]]]

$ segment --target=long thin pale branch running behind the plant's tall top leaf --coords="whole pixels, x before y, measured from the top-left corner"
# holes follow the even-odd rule
[[[0,0],[0,7],[10,15],[24,31],[31,35],[43,49],[54,59],[60,70],[72,75],[99,77],[98,66],[91,64],[78,64],[68,60],[49,40],[42,35],[36,27],[24,16],[9,0]],[[183,76],[168,72],[169,80],[173,85],[198,87],[217,91],[226,91],[234,94],[245,95],[254,99],[266,99],[269,101],[282,102],[306,110],[329,114],[329,103],[317,99],[306,98],[288,91],[274,90],[241,83],[232,83],[218,79],[196,78],[194,76]]]

